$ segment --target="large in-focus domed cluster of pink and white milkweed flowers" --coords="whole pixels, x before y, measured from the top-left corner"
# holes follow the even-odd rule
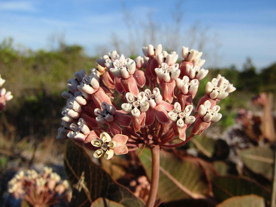
[[[195,105],[199,81],[208,73],[201,68],[202,52],[183,47],[178,64],[176,52],[162,51],[161,44],[142,50],[144,57],[135,60],[112,51],[97,59],[89,73],[75,73],[62,93],[67,105],[57,139],[70,138],[95,150],[94,157],[110,159],[144,145],[179,146],[220,120],[217,103],[235,87],[218,75]],[[177,139],[179,144],[170,144]]]

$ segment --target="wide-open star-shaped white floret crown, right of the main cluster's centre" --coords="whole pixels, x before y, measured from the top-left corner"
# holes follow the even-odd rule
[[[191,124],[195,121],[194,116],[190,116],[193,110],[193,105],[187,105],[184,111],[181,111],[181,105],[178,102],[174,103],[174,111],[168,113],[169,119],[176,122],[176,125],[181,128],[184,124]]]

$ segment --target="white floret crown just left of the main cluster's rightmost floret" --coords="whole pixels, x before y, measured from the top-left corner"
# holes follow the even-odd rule
[[[218,86],[218,80],[216,78],[213,78],[211,82],[207,82],[205,86],[205,91],[210,96],[210,98],[217,98],[221,100],[228,96],[228,92],[225,91],[227,87],[228,86],[226,84]]]

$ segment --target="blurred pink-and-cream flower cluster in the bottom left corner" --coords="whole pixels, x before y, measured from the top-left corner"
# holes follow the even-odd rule
[[[31,206],[68,203],[71,199],[68,188],[68,181],[61,180],[49,167],[44,167],[42,173],[35,170],[19,171],[8,182],[8,192],[16,199],[24,199]]]

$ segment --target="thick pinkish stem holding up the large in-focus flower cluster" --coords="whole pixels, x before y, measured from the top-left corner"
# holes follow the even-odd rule
[[[157,197],[158,182],[159,182],[159,168],[160,168],[160,147],[156,145],[151,147],[151,189],[148,195],[148,202],[146,207],[153,207]]]

